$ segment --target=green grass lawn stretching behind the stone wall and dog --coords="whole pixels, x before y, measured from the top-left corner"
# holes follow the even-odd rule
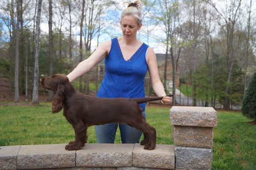
[[[147,122],[157,130],[157,144],[173,144],[169,108],[147,107]],[[74,140],[72,126],[62,111],[51,114],[50,103],[40,106],[0,106],[0,146],[64,144]],[[218,111],[214,128],[212,169],[255,170],[256,126],[239,112]],[[94,126],[88,128],[87,142],[96,143]],[[117,130],[115,143],[120,142]]]

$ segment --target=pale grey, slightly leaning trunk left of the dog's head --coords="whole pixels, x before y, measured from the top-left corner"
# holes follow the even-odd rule
[[[37,13],[37,19],[36,19],[36,33],[35,33],[34,84],[33,84],[32,104],[39,104],[38,81],[39,81],[39,33],[40,33],[41,5],[42,5],[42,0],[38,0],[38,13]]]

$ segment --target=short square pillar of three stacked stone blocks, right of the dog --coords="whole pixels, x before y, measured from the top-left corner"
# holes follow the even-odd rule
[[[213,127],[217,112],[213,107],[181,107],[170,109],[175,145],[175,168],[211,169]]]

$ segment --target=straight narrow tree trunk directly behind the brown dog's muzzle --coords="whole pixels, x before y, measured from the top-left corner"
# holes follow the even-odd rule
[[[53,75],[53,0],[49,0],[49,76]],[[47,101],[53,100],[53,91],[48,91]]]

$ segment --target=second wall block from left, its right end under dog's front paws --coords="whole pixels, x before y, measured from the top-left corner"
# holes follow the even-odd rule
[[[24,145],[17,157],[18,169],[44,169],[75,166],[75,151],[65,150],[66,144]]]

